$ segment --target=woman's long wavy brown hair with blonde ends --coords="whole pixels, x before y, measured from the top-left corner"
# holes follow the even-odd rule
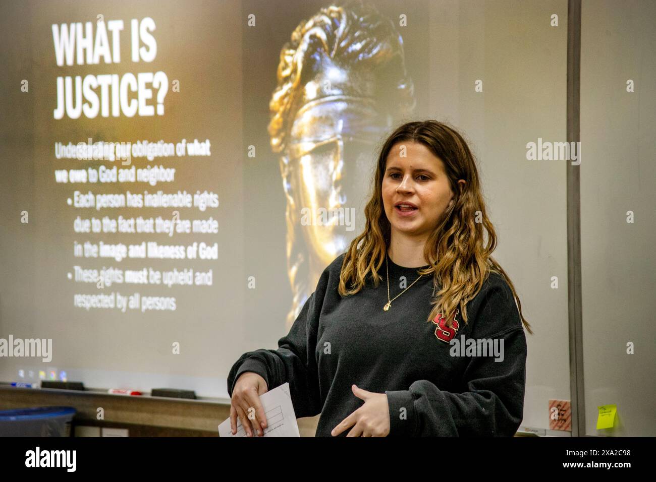
[[[434,305],[428,322],[443,315],[451,326],[453,313],[459,309],[467,323],[466,304],[482,289],[489,273],[499,273],[512,289],[522,323],[527,331],[531,325],[523,317],[522,303],[510,277],[491,256],[497,247],[497,235],[487,217],[474,155],[461,134],[446,123],[434,120],[413,121],[398,127],[380,148],[377,169],[371,188],[371,198],[365,207],[365,230],[346,251],[342,262],[338,292],[349,296],[359,292],[371,273],[377,287],[382,281],[378,274],[385,261],[390,243],[391,225],[382,202],[382,180],[392,146],[398,142],[419,142],[444,163],[455,202],[440,216],[424,247],[428,268],[417,270],[421,275],[433,275]],[[459,179],[466,184],[460,186]],[[487,234],[487,236],[486,236]]]

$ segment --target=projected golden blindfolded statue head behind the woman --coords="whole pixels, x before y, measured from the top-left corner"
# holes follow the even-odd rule
[[[363,230],[377,144],[415,108],[400,33],[362,0],[322,8],[283,46],[269,107],[287,199],[289,329]]]

